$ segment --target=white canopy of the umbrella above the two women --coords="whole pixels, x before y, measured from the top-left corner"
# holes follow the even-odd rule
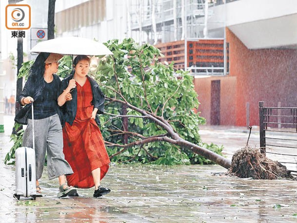
[[[32,53],[57,53],[63,55],[113,55],[113,53],[102,43],[80,37],[60,37],[37,43]]]

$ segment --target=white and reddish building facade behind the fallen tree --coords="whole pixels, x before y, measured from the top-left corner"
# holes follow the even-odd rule
[[[195,77],[208,124],[258,125],[258,101],[297,106],[295,0],[57,0],[56,27],[156,45]]]

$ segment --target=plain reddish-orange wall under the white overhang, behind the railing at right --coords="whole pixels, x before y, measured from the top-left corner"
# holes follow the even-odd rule
[[[236,125],[246,125],[246,103],[250,125],[258,125],[258,101],[265,105],[297,106],[297,50],[249,50],[227,29],[230,76],[237,77]]]

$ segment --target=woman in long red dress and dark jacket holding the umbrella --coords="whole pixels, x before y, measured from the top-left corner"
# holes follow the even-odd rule
[[[94,197],[108,194],[110,189],[100,185],[109,168],[109,157],[99,129],[105,97],[98,83],[89,77],[90,59],[79,55],[73,62],[75,72],[61,83],[63,93],[58,99],[64,105],[63,152],[74,174],[66,176],[68,185],[78,188],[95,186]],[[70,89],[68,83],[75,81]],[[72,100],[66,94],[71,92]]]

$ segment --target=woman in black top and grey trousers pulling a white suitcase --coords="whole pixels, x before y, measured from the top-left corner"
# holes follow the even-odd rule
[[[55,74],[58,71],[59,54],[40,53],[30,69],[30,74],[24,89],[20,94],[20,104],[25,105],[16,115],[15,121],[28,124],[23,135],[23,146],[31,147],[32,142],[32,101],[34,101],[35,153],[36,153],[36,189],[41,197],[39,179],[44,166],[47,152],[47,172],[50,180],[59,178],[58,197],[77,196],[77,190],[67,186],[65,175],[73,171],[64,159],[62,125],[60,109],[57,103],[59,97],[60,79]],[[72,82],[70,85],[73,84]],[[72,87],[71,85],[70,87]],[[67,96],[67,95],[66,95]],[[69,94],[71,99],[71,95]]]

